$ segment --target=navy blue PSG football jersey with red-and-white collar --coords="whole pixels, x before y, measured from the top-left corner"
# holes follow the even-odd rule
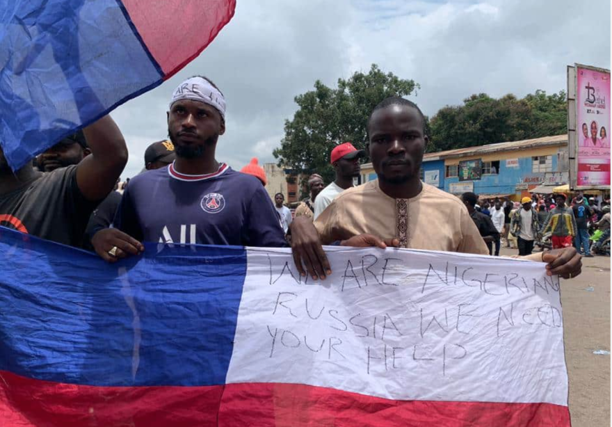
[[[287,245],[261,182],[225,164],[208,175],[184,175],[170,164],[134,177],[114,227],[154,243]]]

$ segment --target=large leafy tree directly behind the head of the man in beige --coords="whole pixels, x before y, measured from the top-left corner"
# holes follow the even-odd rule
[[[373,64],[367,72],[339,79],[337,88],[321,81],[295,97],[298,111],[285,120],[284,138],[273,154],[279,166],[296,173],[319,173],[326,183],[334,179],[330,152],[350,141],[358,150],[367,143],[366,122],[372,109],[390,96],[404,97],[419,88],[413,80],[400,79]]]

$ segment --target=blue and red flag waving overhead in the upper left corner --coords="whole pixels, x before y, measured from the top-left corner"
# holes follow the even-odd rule
[[[13,170],[161,84],[235,0],[0,0],[0,144]]]

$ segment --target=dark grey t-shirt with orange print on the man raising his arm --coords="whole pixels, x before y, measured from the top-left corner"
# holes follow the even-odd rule
[[[0,225],[81,247],[96,205],[97,202],[86,200],[77,186],[77,166],[68,166],[0,195]]]

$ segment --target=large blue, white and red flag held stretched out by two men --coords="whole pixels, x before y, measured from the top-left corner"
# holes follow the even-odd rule
[[[0,426],[570,426],[541,263],[147,245],[97,256],[0,228]]]

